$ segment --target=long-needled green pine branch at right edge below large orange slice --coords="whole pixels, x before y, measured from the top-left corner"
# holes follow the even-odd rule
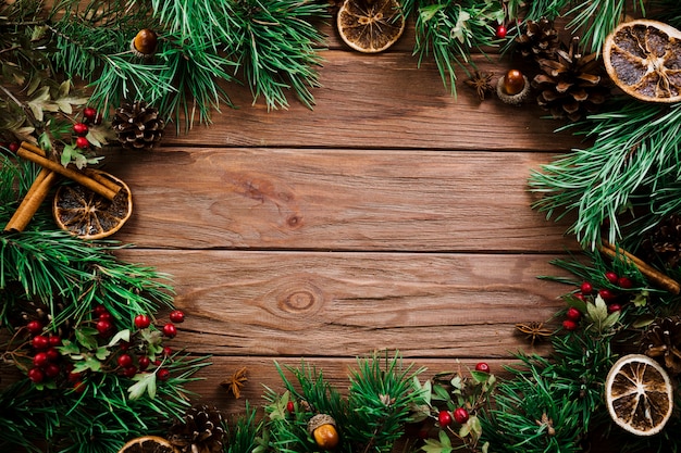
[[[547,217],[577,212],[569,232],[594,249],[603,225],[608,225],[605,238],[617,242],[623,212],[634,202],[654,211],[649,200],[658,200],[677,184],[681,109],[626,100],[581,126],[587,137],[595,137],[591,148],[575,149],[533,172],[530,187],[542,194],[533,207]],[[639,192],[646,196],[639,198]]]

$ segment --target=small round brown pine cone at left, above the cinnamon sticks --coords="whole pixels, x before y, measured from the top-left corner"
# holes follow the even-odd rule
[[[163,137],[165,123],[159,118],[159,111],[145,101],[125,102],[116,109],[111,121],[123,148],[150,149]]]

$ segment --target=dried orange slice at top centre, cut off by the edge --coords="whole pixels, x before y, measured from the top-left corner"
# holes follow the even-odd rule
[[[405,15],[396,0],[345,0],[338,10],[338,34],[352,49],[381,52],[405,30]]]

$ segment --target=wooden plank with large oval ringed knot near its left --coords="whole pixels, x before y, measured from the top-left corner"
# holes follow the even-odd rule
[[[509,357],[515,323],[549,319],[567,287],[553,255],[123,250],[174,276],[196,353]],[[537,348],[540,352],[542,348]]]

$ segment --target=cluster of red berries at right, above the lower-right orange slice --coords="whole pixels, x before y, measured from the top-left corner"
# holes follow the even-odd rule
[[[628,301],[626,291],[633,287],[633,281],[626,276],[619,276],[612,270],[604,274],[604,288],[596,288],[591,281],[584,281],[578,292],[572,297],[583,302],[593,302],[597,297],[608,306],[608,313],[619,312]],[[570,306],[566,312],[562,328],[566,330],[577,330],[582,319],[583,313],[574,306]]]

